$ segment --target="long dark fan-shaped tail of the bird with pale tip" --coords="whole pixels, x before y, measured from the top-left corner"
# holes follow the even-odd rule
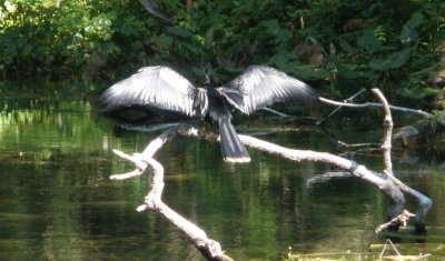
[[[222,157],[228,162],[250,162],[249,153],[239,140],[230,119],[219,120]]]

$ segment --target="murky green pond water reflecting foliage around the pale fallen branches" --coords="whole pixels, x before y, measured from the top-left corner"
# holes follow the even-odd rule
[[[136,212],[148,175],[108,178],[132,170],[112,149],[140,151],[156,132],[116,129],[78,98],[3,96],[0,106],[0,260],[202,260],[161,217]],[[379,126],[372,133],[352,128],[336,134],[344,141],[378,142]],[[315,129],[260,138],[337,152]],[[157,154],[166,168],[165,202],[235,260],[283,260],[288,247],[294,253],[332,257],[366,253],[369,243],[384,242],[374,229],[386,221],[386,202],[373,185],[339,178],[308,187],[310,178],[336,169],[253,150],[250,155],[249,164],[228,164],[218,144],[175,139]],[[445,255],[444,163],[423,158],[397,155],[394,169],[434,200],[422,240],[442,248],[429,258],[435,260]],[[378,154],[354,159],[382,169]],[[415,211],[414,203],[408,208]]]

